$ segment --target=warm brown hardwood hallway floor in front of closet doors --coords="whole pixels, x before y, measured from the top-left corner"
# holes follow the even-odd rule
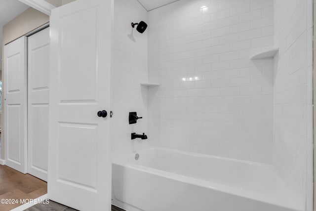
[[[17,200],[14,204],[0,204],[0,211],[19,207],[20,199],[36,199],[47,193],[47,183],[30,174],[23,174],[0,165],[0,199]]]

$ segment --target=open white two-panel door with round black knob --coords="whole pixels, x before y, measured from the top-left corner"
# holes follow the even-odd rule
[[[48,198],[111,210],[112,0],[76,0],[50,16]]]

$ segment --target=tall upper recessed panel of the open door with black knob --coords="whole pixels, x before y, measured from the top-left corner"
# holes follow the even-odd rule
[[[98,30],[97,12],[99,8],[87,7],[62,18],[61,62],[60,62],[60,100],[76,102],[96,102],[96,76]],[[90,24],[95,23],[95,24]],[[72,25],[72,27],[69,27]],[[103,27],[103,26],[101,26]],[[84,32],[82,32],[84,29]],[[74,42],[74,38],[77,42]],[[79,40],[82,39],[82,42]],[[89,41],[89,42],[87,42]],[[79,46],[78,46],[79,45]],[[81,49],[81,51],[79,49]],[[69,52],[78,49],[78,53]],[[84,52],[82,52],[84,50]],[[86,56],[89,55],[89,56]],[[84,61],[84,62],[74,62]],[[76,80],[74,80],[76,79]],[[69,85],[71,83],[71,85]],[[85,85],[89,84],[89,85]],[[93,85],[90,85],[93,84]]]

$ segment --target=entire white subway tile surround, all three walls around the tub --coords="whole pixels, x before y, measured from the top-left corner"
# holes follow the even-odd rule
[[[180,0],[150,12],[114,3],[113,151],[273,163],[312,211],[313,0]],[[144,34],[130,26],[141,20]],[[274,47],[274,60],[250,60]],[[128,125],[130,111],[144,119]]]

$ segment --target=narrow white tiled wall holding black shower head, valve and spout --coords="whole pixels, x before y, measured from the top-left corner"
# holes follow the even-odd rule
[[[147,22],[147,11],[137,0],[114,1],[114,46],[111,80],[111,141],[113,151],[131,152],[146,146],[148,140],[131,141],[131,133],[148,132],[147,88],[140,83],[148,78],[147,32],[132,29],[131,22]],[[111,27],[111,26],[109,26]],[[143,119],[128,124],[128,113],[136,111]]]

